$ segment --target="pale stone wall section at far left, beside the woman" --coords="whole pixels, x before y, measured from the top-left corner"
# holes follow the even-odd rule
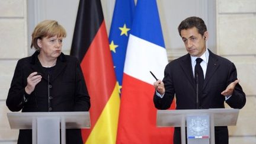
[[[17,59],[27,56],[27,1],[0,1],[0,143],[15,143],[5,105]]]

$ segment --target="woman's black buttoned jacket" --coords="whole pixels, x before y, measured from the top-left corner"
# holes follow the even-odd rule
[[[22,112],[88,111],[89,95],[78,60],[63,53],[57,57],[56,65],[49,78],[50,97],[48,97],[48,73],[43,70],[37,55],[39,52],[18,60],[6,102],[9,110],[22,110]],[[32,72],[42,73],[43,78],[34,91],[28,95],[25,93],[25,86],[27,77]],[[24,101],[24,97],[27,102]],[[32,143],[31,130],[20,130],[18,143]],[[66,143],[82,143],[81,130],[66,130]]]

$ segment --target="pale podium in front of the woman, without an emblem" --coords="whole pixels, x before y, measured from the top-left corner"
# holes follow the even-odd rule
[[[89,129],[89,112],[7,113],[11,129],[32,129],[32,143],[66,143],[66,129]],[[60,130],[61,129],[61,130]],[[50,137],[50,138],[49,138]]]

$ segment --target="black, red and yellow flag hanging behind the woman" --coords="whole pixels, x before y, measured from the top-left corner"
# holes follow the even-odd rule
[[[81,0],[71,55],[81,62],[91,97],[91,129],[82,129],[85,143],[116,143],[120,97],[100,0]]]

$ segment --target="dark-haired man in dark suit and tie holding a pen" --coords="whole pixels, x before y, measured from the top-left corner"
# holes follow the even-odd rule
[[[245,93],[238,84],[235,65],[206,49],[209,34],[204,21],[188,17],[178,31],[188,54],[168,63],[164,79],[154,82],[155,107],[168,109],[174,95],[177,110],[225,108],[224,102],[232,108],[244,107]],[[196,65],[198,57],[201,62]],[[199,69],[203,70],[201,81]],[[181,143],[179,127],[174,130],[174,143]],[[215,127],[215,143],[228,143],[228,127]]]

